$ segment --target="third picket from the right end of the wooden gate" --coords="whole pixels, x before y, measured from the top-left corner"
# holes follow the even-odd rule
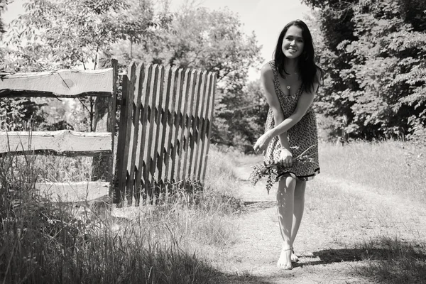
[[[193,129],[192,125],[195,123],[195,116],[197,114],[197,104],[200,103],[200,71],[194,70],[191,77],[190,93],[188,94],[188,110],[187,110],[187,124],[185,131],[184,143],[184,158],[182,167],[182,180],[190,178],[187,170],[191,169],[191,158],[193,153],[191,147]]]

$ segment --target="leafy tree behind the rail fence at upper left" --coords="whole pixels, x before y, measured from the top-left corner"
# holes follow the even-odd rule
[[[13,72],[95,69],[118,40],[138,43],[163,24],[150,1],[30,0],[25,8],[6,33],[4,68]],[[80,101],[92,130],[94,102]]]

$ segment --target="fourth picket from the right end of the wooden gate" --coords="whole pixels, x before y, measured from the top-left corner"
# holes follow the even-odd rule
[[[180,121],[180,134],[179,134],[179,149],[178,149],[178,167],[176,169],[176,180],[183,180],[182,178],[182,165],[184,163],[184,157],[185,157],[185,139],[186,139],[186,132],[187,132],[187,120],[188,120],[188,109],[192,109],[191,99],[192,99],[192,84],[194,81],[194,70],[186,70],[185,72],[185,82],[183,85],[183,92],[182,92],[182,99],[184,104],[182,104],[182,109],[180,109],[180,114],[182,115],[182,120]]]

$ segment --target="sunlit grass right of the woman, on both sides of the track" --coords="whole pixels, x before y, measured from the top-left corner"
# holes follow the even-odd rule
[[[359,185],[364,185],[380,195],[393,195],[395,200],[408,197],[408,202],[415,202],[413,206],[424,206],[419,202],[425,198],[421,153],[422,148],[393,141],[344,147],[322,144],[321,175],[354,186],[343,190],[346,185],[330,184],[327,178],[310,182],[307,218],[332,236],[329,249],[314,252],[314,256],[322,263],[357,261],[349,264],[351,271],[374,283],[422,283],[426,278],[426,241],[417,230],[424,228],[398,216],[391,204],[371,202],[357,192]]]

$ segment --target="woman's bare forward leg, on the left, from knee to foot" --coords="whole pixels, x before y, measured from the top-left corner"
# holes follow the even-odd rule
[[[279,268],[291,268],[291,247],[293,228],[293,209],[296,180],[290,176],[280,180],[277,191],[277,212],[280,233],[283,237],[283,249],[277,266]]]

